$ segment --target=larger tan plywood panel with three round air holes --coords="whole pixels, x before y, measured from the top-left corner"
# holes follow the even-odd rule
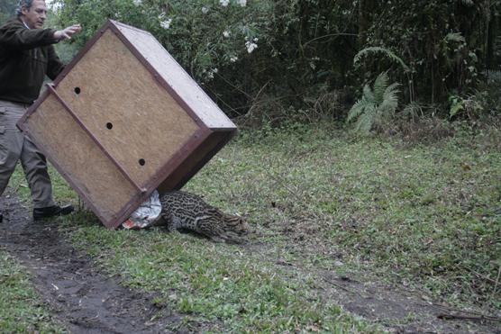
[[[198,129],[111,30],[60,81],[57,91],[139,185],[158,173]]]

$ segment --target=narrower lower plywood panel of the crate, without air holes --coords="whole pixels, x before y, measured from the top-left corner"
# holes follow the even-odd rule
[[[25,126],[105,221],[112,220],[136,193],[53,95],[32,113]]]

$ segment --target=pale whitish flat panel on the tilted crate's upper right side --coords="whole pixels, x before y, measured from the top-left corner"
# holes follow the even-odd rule
[[[149,32],[122,23],[115,25],[207,127],[236,128],[217,104]]]

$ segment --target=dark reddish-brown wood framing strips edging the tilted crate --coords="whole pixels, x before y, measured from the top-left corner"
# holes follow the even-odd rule
[[[28,109],[28,111],[23,115],[21,120],[17,123],[17,126],[25,132],[29,131],[28,128],[25,124],[29,117],[32,115],[32,113],[35,113],[38,107],[41,105],[41,103],[49,96],[49,95],[54,95],[60,104],[63,105],[64,109],[71,114],[73,119],[77,122],[77,124],[82,127],[84,131],[87,132],[87,135],[90,136],[92,140],[96,143],[96,145],[105,153],[107,158],[110,158],[111,161],[113,162],[114,166],[117,167],[117,169],[123,174],[123,176],[134,185],[134,187],[138,190],[138,192],[132,196],[132,199],[126,203],[123,206],[123,209],[113,215],[113,218],[111,221],[106,221],[105,217],[103,217],[100,213],[99,210],[97,210],[96,206],[90,198],[88,198],[87,194],[82,191],[79,186],[76,185],[75,182],[71,179],[71,177],[68,176],[68,174],[59,166],[58,162],[55,161],[50,157],[50,150],[45,148],[43,143],[37,143],[37,146],[39,149],[41,149],[42,153],[47,156],[47,158],[50,160],[50,163],[58,170],[59,174],[63,176],[66,181],[68,182],[69,185],[73,187],[73,189],[77,192],[77,194],[84,200],[84,202],[87,204],[89,208],[93,212],[96,213],[98,218],[103,221],[106,227],[114,229],[117,228],[118,226],[121,225],[123,221],[125,221],[131,213],[142,203],[144,202],[150,194],[157,188],[159,187],[160,184],[162,184],[170,174],[172,174],[175,170],[177,170],[180,165],[182,165],[183,161],[185,161],[191,152],[196,150],[197,148],[200,148],[201,145],[204,143],[205,140],[207,140],[211,135],[213,135],[216,132],[223,133],[221,136],[221,140],[217,142],[216,145],[214,145],[213,149],[210,149],[208,152],[205,153],[205,156],[200,158],[193,166],[188,166],[189,170],[187,170],[187,173],[185,173],[185,176],[180,178],[179,180],[174,180],[176,181],[174,185],[172,186],[173,189],[179,189],[183,185],[187,183],[187,181],[196,174],[196,172],[203,167],[211,158],[214,157],[214,155],[219,151],[220,149],[223,148],[223,146],[232,139],[232,137],[236,133],[236,127],[234,128],[209,128],[205,122],[203,122],[200,117],[196,114],[194,110],[191,109],[191,107],[181,98],[178,93],[172,89],[171,86],[164,80],[162,76],[159,75],[159,72],[153,68],[150,63],[148,62],[147,59],[144,59],[142,56],[141,52],[137,50],[132,43],[127,40],[127,38],[123,35],[123,33],[118,29],[118,26],[122,25],[123,27],[126,27],[128,29],[135,29],[140,31],[139,29],[136,29],[134,27],[125,25],[123,23],[117,23],[112,20],[109,20],[108,22],[105,23],[105,25],[99,29],[99,31],[96,33],[96,35],[90,40],[87,41],[87,44],[85,47],[80,50],[75,58],[68,64],[68,66],[59,74],[59,76],[54,80],[53,84],[48,85],[48,89],[41,95],[41,97],[32,104],[32,106]],[[131,176],[127,174],[125,169],[113,158],[111,155],[104,149],[103,145],[99,140],[96,139],[96,136],[94,136],[90,131],[87,130],[86,126],[78,119],[77,115],[71,110],[71,107],[68,106],[58,95],[57,93],[57,87],[59,83],[68,75],[68,73],[74,68],[78,61],[82,59],[88,50],[90,50],[96,41],[98,41],[103,33],[105,33],[107,30],[110,30],[111,32],[114,32],[116,37],[120,39],[120,41],[123,42],[123,44],[129,49],[132,54],[141,62],[141,64],[148,69],[152,77],[156,79],[156,82],[161,86],[163,89],[165,89],[169,95],[171,95],[174,100],[181,106],[183,110],[187,112],[187,114],[190,116],[190,118],[196,122],[196,125],[198,126],[198,130],[193,134],[186,142],[185,144],[178,149],[178,151],[174,154],[172,158],[169,159],[169,161],[159,169],[159,171],[150,178],[149,182],[144,187],[141,187],[141,185],[137,185]],[[144,31],[141,31],[144,32]],[[149,32],[147,32],[149,33]],[[150,34],[150,33],[149,33]],[[186,72],[186,71],[185,71]],[[204,92],[205,94],[205,92]]]

